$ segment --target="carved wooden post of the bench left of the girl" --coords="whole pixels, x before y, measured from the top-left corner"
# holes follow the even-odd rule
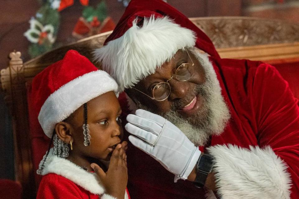
[[[16,180],[22,184],[24,198],[35,197],[29,135],[24,65],[20,52],[9,54],[9,67],[1,70],[2,89],[12,113]]]

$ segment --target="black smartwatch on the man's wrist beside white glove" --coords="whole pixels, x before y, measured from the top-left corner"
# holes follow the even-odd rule
[[[211,173],[214,165],[214,158],[211,155],[202,154],[196,164],[195,187],[202,188],[206,183],[206,177]]]

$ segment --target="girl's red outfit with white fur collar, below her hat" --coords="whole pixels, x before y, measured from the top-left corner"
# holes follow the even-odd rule
[[[43,177],[37,192],[37,199],[82,198],[82,199],[116,199],[105,194],[94,172],[87,172],[65,158],[52,155],[50,150],[43,169]],[[125,199],[129,199],[126,190]]]

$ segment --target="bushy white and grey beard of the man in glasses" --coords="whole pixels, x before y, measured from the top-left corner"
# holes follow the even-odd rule
[[[223,132],[230,119],[230,112],[221,95],[219,81],[208,57],[195,49],[192,49],[192,53],[206,73],[205,83],[198,85],[194,90],[194,92],[203,96],[204,105],[198,113],[189,118],[182,118],[173,109],[159,114],[177,126],[195,146],[204,146],[209,141],[210,136],[220,135]],[[193,96],[194,92],[192,92]],[[134,101],[136,104],[128,97],[128,103],[132,111],[139,108],[157,113],[155,110],[141,104],[136,98],[134,98]]]

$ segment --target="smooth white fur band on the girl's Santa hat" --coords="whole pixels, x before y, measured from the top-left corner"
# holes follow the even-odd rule
[[[89,72],[61,86],[40,109],[38,120],[45,134],[51,137],[56,123],[69,117],[84,103],[109,91],[118,96],[117,83],[101,70]]]

